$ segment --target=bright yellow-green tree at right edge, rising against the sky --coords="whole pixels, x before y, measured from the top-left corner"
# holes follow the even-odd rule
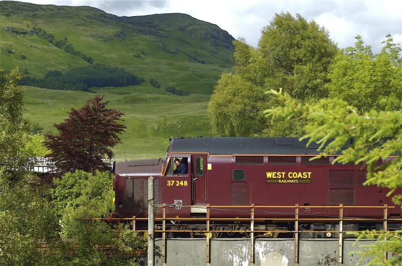
[[[340,51],[330,66],[326,84],[331,98],[342,99],[360,113],[402,108],[402,58],[400,45],[390,35],[384,47],[373,54],[360,36],[354,47]]]

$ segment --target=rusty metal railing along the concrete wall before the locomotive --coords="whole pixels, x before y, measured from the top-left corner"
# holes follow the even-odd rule
[[[189,205],[189,206],[181,206],[181,207],[196,207],[196,208],[205,208],[206,209],[206,217],[197,217],[197,218],[180,218],[178,216],[176,217],[166,217],[166,209],[167,207],[175,207],[174,205],[168,205],[168,204],[154,204],[153,207],[155,208],[161,208],[162,210],[162,217],[161,218],[154,218],[155,221],[161,221],[162,223],[158,224],[159,226],[162,226],[162,230],[156,229],[154,230],[155,232],[162,233],[162,264],[163,262],[166,262],[166,233],[175,233],[175,232],[181,232],[181,233],[200,233],[200,234],[205,234],[206,236],[206,263],[209,265],[210,263],[210,234],[211,233],[245,233],[245,234],[250,234],[250,262],[254,262],[254,233],[264,233],[264,234],[270,234],[273,236],[273,233],[279,234],[279,233],[293,233],[294,234],[294,263],[295,265],[298,264],[298,235],[299,233],[326,233],[326,234],[332,234],[332,233],[338,233],[338,240],[339,240],[339,245],[338,245],[338,262],[342,263],[343,262],[343,233],[360,233],[364,232],[365,230],[343,230],[343,222],[344,221],[373,221],[373,222],[382,222],[383,223],[383,230],[386,232],[390,232],[387,228],[387,223],[388,221],[402,221],[402,218],[388,218],[388,209],[396,208],[396,206],[388,206],[387,204],[384,204],[383,206],[343,206],[340,204],[339,206],[299,206],[298,204],[295,204],[294,206],[255,206],[253,205],[247,205],[247,206],[227,206],[227,205],[216,205],[216,206],[210,206],[209,204],[207,205]],[[250,208],[250,217],[249,218],[214,218],[210,216],[210,211],[211,210],[224,210],[224,209],[218,209],[218,208],[227,208],[227,211],[238,211],[238,212],[246,212],[245,210],[236,210],[238,208]],[[294,213],[291,212],[262,212],[262,211],[255,211],[256,208],[294,208]],[[299,213],[300,208],[338,208],[339,209],[339,216],[330,216],[330,215],[318,215],[318,214],[313,214],[313,213]],[[363,218],[363,217],[346,217],[344,216],[343,209],[344,208],[375,208],[375,209],[383,209],[383,218]],[[254,214],[255,213],[265,213],[265,214],[284,214],[284,215],[294,215],[294,218],[273,218],[273,217],[266,217],[266,218],[255,218]],[[312,215],[312,216],[321,216],[322,218],[300,218],[300,216],[306,216],[306,215]],[[325,217],[325,218],[324,218]],[[145,221],[148,220],[148,218],[141,217],[137,218],[136,216],[133,216],[131,218],[78,218],[76,220],[88,220],[88,226],[91,226],[91,221],[93,220],[103,220],[103,221],[132,221],[133,231],[137,232],[148,232],[148,230],[138,230],[136,228],[136,221]],[[203,221],[205,222],[205,230],[203,229],[197,229],[197,230],[192,230],[192,229],[180,229],[180,230],[169,230],[166,229],[166,220],[173,220],[173,221]],[[282,230],[282,228],[274,229],[274,230],[254,230],[254,221],[263,221],[263,220],[271,220],[271,221],[285,221],[285,222],[294,222],[294,230]],[[250,228],[243,229],[243,230],[230,230],[230,229],[225,229],[225,230],[218,230],[217,228],[210,228],[210,221],[249,221],[250,222]],[[299,221],[331,221],[331,222],[339,222],[339,230],[299,230],[298,224]],[[283,229],[288,229],[286,227],[283,227]],[[258,237],[258,236],[257,236]],[[384,251],[384,259],[386,259],[387,253]]]

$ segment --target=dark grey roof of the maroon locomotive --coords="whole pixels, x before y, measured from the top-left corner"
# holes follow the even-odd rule
[[[170,148],[174,152],[209,152],[215,155],[319,154],[320,144],[311,143],[307,147],[307,142],[307,139],[300,141],[297,137],[194,137],[173,138]]]

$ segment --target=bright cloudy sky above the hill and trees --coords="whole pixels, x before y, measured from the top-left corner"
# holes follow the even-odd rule
[[[402,43],[402,1],[341,1],[341,0],[171,0],[171,1],[88,1],[88,0],[27,0],[42,5],[90,6],[117,16],[141,16],[161,13],[184,13],[196,19],[217,24],[234,38],[244,38],[257,47],[261,29],[275,13],[299,13],[308,21],[324,26],[330,38],[345,48],[353,46],[356,35],[366,45],[379,52],[381,42],[389,33]]]

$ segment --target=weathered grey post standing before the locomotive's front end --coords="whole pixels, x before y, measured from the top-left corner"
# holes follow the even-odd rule
[[[154,266],[154,178],[148,178],[148,266]]]

